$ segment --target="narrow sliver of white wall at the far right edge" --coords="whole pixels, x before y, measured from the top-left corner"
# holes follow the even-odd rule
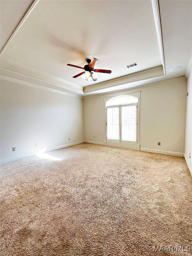
[[[187,80],[187,92],[185,159],[192,175],[192,71]],[[191,158],[189,158],[189,153],[191,153]]]

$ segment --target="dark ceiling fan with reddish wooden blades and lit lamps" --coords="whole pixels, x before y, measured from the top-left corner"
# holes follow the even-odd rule
[[[81,68],[84,69],[84,72],[81,72],[79,74],[77,74],[76,76],[73,76],[73,78],[76,78],[78,76],[82,76],[83,79],[87,80],[87,81],[97,81],[96,78],[96,74],[93,72],[98,72],[98,73],[108,73],[111,74],[111,70],[107,70],[107,69],[94,69],[95,64],[97,63],[98,59],[96,58],[92,58],[92,60],[87,59],[87,65],[83,67],[79,67],[76,65],[72,65],[72,64],[67,64],[67,66],[71,66],[71,67],[75,67],[75,68]]]

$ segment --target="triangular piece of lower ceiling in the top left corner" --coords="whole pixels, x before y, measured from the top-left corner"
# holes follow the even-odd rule
[[[0,1],[0,51],[32,4],[33,0],[1,0]]]

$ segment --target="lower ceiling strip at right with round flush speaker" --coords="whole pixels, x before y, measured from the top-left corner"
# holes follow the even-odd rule
[[[192,1],[159,1],[167,78],[185,75],[192,53]],[[181,66],[179,72],[170,72]]]

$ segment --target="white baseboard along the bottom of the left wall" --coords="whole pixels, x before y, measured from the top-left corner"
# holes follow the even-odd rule
[[[57,146],[57,147],[53,147],[53,148],[48,148],[44,152],[50,152],[50,151],[53,151],[53,150],[57,150],[57,149],[60,149],[60,148],[66,148],[66,147],[70,147],[70,146],[81,144],[81,143],[84,143],[84,140],[68,143],[68,144]],[[25,154],[25,155],[5,158],[5,159],[0,160],[0,163],[4,164],[4,163],[11,162],[11,161],[19,160],[19,159],[22,159],[22,158],[34,156],[38,152],[41,152],[41,150],[38,150],[38,151],[35,151],[35,152],[32,152],[32,153],[28,153],[28,154]]]

